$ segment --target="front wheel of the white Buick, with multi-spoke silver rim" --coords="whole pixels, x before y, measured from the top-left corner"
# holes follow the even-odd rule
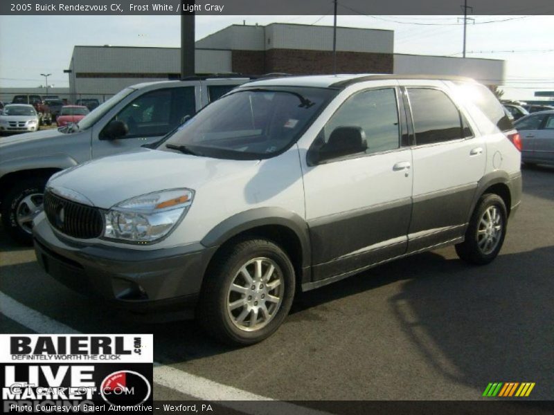
[[[248,345],[273,334],[289,313],[294,267],[265,239],[224,248],[204,276],[197,318],[217,340]]]

